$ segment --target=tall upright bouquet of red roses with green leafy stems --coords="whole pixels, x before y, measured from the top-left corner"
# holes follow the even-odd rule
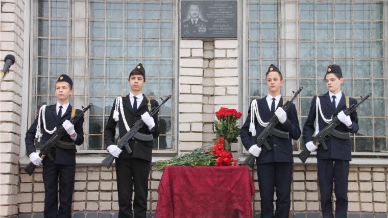
[[[232,142],[237,142],[237,137],[240,136],[240,128],[237,126],[237,120],[242,116],[235,109],[221,108],[215,112],[217,119],[214,120],[214,127],[217,133],[217,138],[213,142],[219,141],[219,138],[225,140],[224,146],[227,152],[230,152]]]

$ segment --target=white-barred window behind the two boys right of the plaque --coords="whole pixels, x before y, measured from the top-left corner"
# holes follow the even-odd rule
[[[273,63],[284,77],[283,96],[304,87],[294,102],[303,128],[312,97],[327,92],[327,66],[338,64],[346,95],[372,93],[357,109],[353,152],[387,151],[387,23],[386,2],[247,1],[246,107],[268,93],[265,72]],[[298,144],[294,151],[304,149],[302,138]]]

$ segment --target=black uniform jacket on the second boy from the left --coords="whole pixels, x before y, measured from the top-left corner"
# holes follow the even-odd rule
[[[139,107],[137,108],[136,113],[133,112],[133,108],[131,105],[131,101],[129,100],[129,94],[123,98],[123,110],[125,114],[125,118],[127,120],[129,128],[132,128],[133,125],[136,123],[137,120],[141,119],[141,115],[145,112],[148,112],[148,99],[143,94],[143,101],[140,103]],[[108,123],[104,130],[104,142],[106,147],[110,146],[114,143],[114,136],[116,134],[116,125],[118,123],[118,132],[119,137],[122,138],[126,133],[127,129],[125,128],[122,113],[119,111],[118,115],[118,122],[115,122],[113,119],[113,112],[115,109],[116,100],[113,103],[113,108],[110,112],[110,116],[108,119]],[[151,100],[151,108],[157,107],[159,104],[157,101]],[[143,124],[143,126],[139,129],[139,133],[142,134],[152,134],[154,138],[159,137],[159,122],[158,122],[158,113],[155,113],[154,116],[155,121],[155,129],[151,132],[146,124]],[[152,149],[154,148],[154,141],[142,141],[138,139],[132,140],[132,142],[129,144],[129,147],[132,149],[132,153],[128,154],[128,151],[126,148],[123,148],[123,152],[120,153],[118,156],[118,159],[131,159],[131,158],[140,158],[148,161],[152,161]]]

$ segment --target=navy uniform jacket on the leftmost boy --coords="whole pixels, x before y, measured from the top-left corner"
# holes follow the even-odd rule
[[[66,112],[63,114],[60,120],[58,120],[58,115],[57,115],[57,108],[56,104],[55,105],[48,105],[46,106],[45,109],[45,120],[46,120],[46,129],[47,130],[53,130],[57,126],[62,126],[63,122],[66,119],[71,118],[71,105],[67,107]],[[82,113],[82,110],[76,110],[76,114]],[[42,115],[42,114],[41,114]],[[77,144],[77,146],[80,146],[82,143],[84,143],[84,116],[79,118],[77,122],[74,124],[74,130],[77,133],[77,138],[76,141],[73,141],[70,138],[70,135],[67,134],[67,132],[60,138],[59,140],[63,142],[74,142]],[[38,118],[35,119],[34,123],[31,125],[30,129],[26,133],[26,149],[27,149],[27,154],[30,155],[33,152],[36,152],[35,149],[35,134],[36,134],[36,127],[38,125]],[[40,119],[40,125],[41,128],[43,128],[43,119],[41,117]],[[53,134],[48,134],[44,129],[42,129],[42,137],[40,140],[44,144],[48,139],[50,139]],[[56,148],[53,152],[52,155],[54,157],[54,162],[56,164],[63,164],[63,165],[76,165],[76,152],[77,149],[61,149],[61,148]],[[50,161],[48,157],[43,158],[42,163]]]

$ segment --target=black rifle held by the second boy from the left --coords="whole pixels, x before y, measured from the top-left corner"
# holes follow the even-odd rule
[[[168,97],[165,98],[158,107],[152,108],[151,111],[148,112],[150,114],[150,116],[153,116],[159,110],[159,108],[162,105],[164,105],[164,103],[166,103],[168,101],[169,98],[171,98],[171,95],[168,95]],[[133,140],[134,138],[137,138],[137,139],[140,139],[143,141],[154,140],[152,135],[149,136],[149,135],[144,135],[144,134],[137,132],[143,126],[143,124],[144,124],[143,119],[137,120],[137,122],[133,125],[132,129],[130,129],[122,138],[120,138],[120,140],[118,140],[117,147],[119,149],[123,149],[123,147],[124,147],[127,149],[128,153],[131,154],[132,150],[131,150],[131,148],[129,148],[129,141],[130,140]],[[104,165],[109,169],[109,167],[113,163],[113,160],[114,160],[114,157],[111,154],[109,154],[108,157],[106,157],[102,161],[102,163],[104,163]]]

